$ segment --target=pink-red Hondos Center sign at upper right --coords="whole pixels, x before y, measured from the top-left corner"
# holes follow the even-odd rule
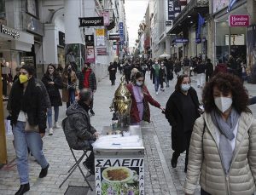
[[[230,27],[246,27],[250,25],[250,17],[247,14],[230,14]]]

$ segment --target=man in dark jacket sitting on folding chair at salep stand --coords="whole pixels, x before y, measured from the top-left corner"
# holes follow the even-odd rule
[[[74,101],[67,108],[67,118],[62,122],[68,145],[75,150],[90,150],[90,156],[84,161],[84,167],[94,175],[94,153],[91,144],[96,141],[98,133],[90,125],[90,101],[92,100],[92,91],[90,89],[81,89],[79,100]]]

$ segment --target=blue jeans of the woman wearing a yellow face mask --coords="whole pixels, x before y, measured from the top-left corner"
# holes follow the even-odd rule
[[[20,185],[29,182],[28,179],[28,151],[27,147],[32,152],[32,155],[42,169],[48,165],[47,160],[44,157],[43,141],[40,134],[36,132],[25,132],[25,122],[18,121],[13,128],[13,134],[15,138],[15,152],[16,152],[16,163],[17,169],[20,175]]]

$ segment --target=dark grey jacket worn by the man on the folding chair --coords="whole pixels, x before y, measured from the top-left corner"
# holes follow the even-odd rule
[[[89,141],[96,141],[96,132],[90,125],[90,116],[78,101],[67,108],[67,118],[62,122],[67,143],[75,150],[89,149]]]

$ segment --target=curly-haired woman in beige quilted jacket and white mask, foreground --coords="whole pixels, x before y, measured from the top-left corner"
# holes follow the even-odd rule
[[[256,123],[241,80],[218,73],[203,89],[205,113],[195,121],[184,191],[194,194],[255,192]]]

